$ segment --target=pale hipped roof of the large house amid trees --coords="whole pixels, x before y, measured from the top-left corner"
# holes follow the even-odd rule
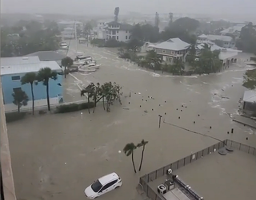
[[[174,51],[188,49],[189,47],[190,47],[189,43],[182,41],[178,37],[171,38],[168,41],[164,41],[162,43],[159,43],[158,45],[154,45],[154,48],[156,49],[168,49],[168,50],[174,50]]]

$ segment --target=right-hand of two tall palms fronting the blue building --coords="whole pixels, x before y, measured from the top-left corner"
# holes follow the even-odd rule
[[[49,99],[49,80],[57,80],[58,73],[55,71],[52,71],[50,68],[42,68],[38,72],[38,82],[42,82],[43,85],[46,86],[46,96],[47,96],[47,105],[48,105],[48,111],[50,111],[50,99]]]

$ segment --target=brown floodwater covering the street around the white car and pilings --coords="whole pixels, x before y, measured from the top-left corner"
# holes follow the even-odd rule
[[[70,57],[74,57],[74,43],[70,48]],[[85,86],[91,81],[115,81],[123,88],[122,105],[115,102],[111,112],[106,112],[99,103],[94,114],[84,110],[82,114],[29,116],[7,124],[18,199],[85,199],[87,186],[114,171],[123,186],[101,199],[139,200],[135,189],[139,177],[218,143],[218,139],[256,146],[254,130],[230,118],[237,113],[245,90],[243,65],[210,75],[171,76],[138,68],[110,49],[78,45],[78,51],[102,66],[95,73],[74,73],[78,80],[69,75],[64,83],[66,101],[81,100],[75,87],[79,80]],[[158,115],[163,118],[160,128]],[[227,134],[231,128],[234,134]],[[134,175],[130,157],[118,151],[126,143],[137,144],[142,139],[149,143],[142,171]],[[136,167],[141,151],[134,152]],[[232,164],[226,164],[230,171]],[[253,167],[250,170],[254,173]]]

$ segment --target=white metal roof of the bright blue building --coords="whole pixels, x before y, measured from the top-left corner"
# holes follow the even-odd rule
[[[61,72],[56,61],[39,61],[38,57],[3,57],[1,58],[1,75],[16,73],[37,73],[42,68]]]

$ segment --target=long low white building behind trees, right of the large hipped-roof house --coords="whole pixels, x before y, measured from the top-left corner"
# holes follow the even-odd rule
[[[215,42],[215,41],[222,41],[224,48],[234,48],[235,47],[235,41],[232,37],[226,36],[226,35],[205,35],[202,34],[198,36],[197,42],[200,43],[207,43],[209,41]]]

